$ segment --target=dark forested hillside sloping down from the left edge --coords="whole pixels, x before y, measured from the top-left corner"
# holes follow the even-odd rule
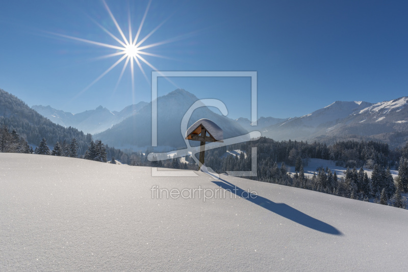
[[[38,145],[44,137],[47,144],[52,148],[55,143],[70,142],[77,139],[83,154],[91,141],[91,135],[85,135],[76,128],[66,128],[46,119],[16,96],[0,89],[0,126],[8,126],[15,129],[29,144]]]

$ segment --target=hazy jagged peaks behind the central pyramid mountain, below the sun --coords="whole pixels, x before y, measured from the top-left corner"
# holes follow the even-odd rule
[[[106,107],[98,106],[95,110],[85,111],[79,114],[56,110],[50,106],[34,105],[32,108],[56,124],[65,127],[75,127],[87,133],[94,134],[120,123],[146,105],[146,102],[139,102],[125,107],[120,112],[111,112]]]

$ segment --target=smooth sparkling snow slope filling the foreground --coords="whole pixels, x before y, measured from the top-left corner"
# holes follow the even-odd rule
[[[0,270],[402,271],[408,211],[221,175],[0,153]],[[151,188],[256,199],[152,199]],[[231,197],[231,198],[230,198]]]

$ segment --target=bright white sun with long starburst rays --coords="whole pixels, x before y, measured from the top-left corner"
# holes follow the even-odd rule
[[[148,79],[148,77],[147,77],[147,75],[146,75],[146,73],[145,73],[145,71],[144,71],[144,69],[142,67],[142,63],[144,63],[145,65],[147,65],[148,67],[150,67],[151,69],[153,69],[155,71],[158,70],[158,69],[156,69],[156,67],[154,67],[152,64],[150,64],[148,61],[146,61],[141,55],[151,56],[151,57],[159,57],[159,58],[166,58],[166,57],[154,54],[154,53],[147,52],[146,49],[156,47],[156,46],[159,46],[159,45],[163,45],[163,44],[166,44],[166,43],[173,42],[173,41],[177,40],[177,37],[174,37],[174,38],[164,40],[164,41],[161,41],[161,42],[151,43],[151,44],[147,44],[147,45],[143,44],[152,34],[154,34],[164,24],[164,22],[168,18],[165,19],[163,22],[161,22],[158,26],[156,26],[156,28],[153,29],[152,31],[150,31],[150,33],[147,34],[144,38],[139,39],[140,38],[140,32],[141,32],[142,27],[143,27],[143,23],[144,23],[144,21],[146,19],[147,12],[148,12],[150,4],[151,4],[151,0],[147,4],[146,10],[144,12],[142,21],[139,24],[139,28],[138,28],[138,31],[137,31],[135,37],[132,34],[132,24],[131,24],[131,17],[130,17],[130,13],[129,13],[129,16],[128,16],[128,18],[129,18],[129,37],[128,38],[126,38],[125,34],[123,33],[122,29],[120,28],[118,22],[116,21],[115,17],[113,16],[113,14],[112,14],[110,8],[108,7],[108,5],[106,4],[105,0],[102,0],[102,3],[104,4],[107,12],[109,13],[113,23],[116,26],[118,34],[120,34],[120,36],[115,36],[110,31],[108,31],[106,28],[104,28],[104,26],[99,24],[97,21],[95,21],[93,19],[92,19],[92,21],[97,26],[99,26],[99,28],[101,30],[103,30],[111,38],[113,38],[115,40],[115,44],[101,43],[101,42],[91,41],[91,40],[82,39],[82,38],[78,38],[78,37],[72,37],[72,36],[63,35],[63,34],[52,33],[53,35],[57,35],[57,36],[60,36],[60,37],[64,37],[64,38],[68,38],[68,39],[72,39],[72,40],[76,40],[76,41],[81,41],[81,42],[85,42],[85,43],[89,43],[89,44],[93,44],[93,45],[97,45],[97,46],[108,47],[108,48],[111,48],[113,50],[113,53],[111,53],[109,55],[101,56],[98,59],[119,57],[119,59],[111,67],[109,67],[105,72],[103,72],[95,80],[93,80],[92,83],[90,83],[86,88],[84,88],[73,99],[77,98],[82,93],[84,93],[86,90],[88,90],[92,85],[94,85],[97,81],[99,81],[99,79],[104,77],[107,73],[109,73],[109,71],[111,71],[113,68],[115,68],[117,65],[119,65],[123,61],[124,61],[123,68],[122,68],[121,73],[119,75],[119,78],[118,78],[118,81],[116,83],[114,92],[116,91],[116,89],[117,89],[117,87],[118,87],[118,85],[120,83],[120,80],[122,79],[123,73],[126,70],[127,66],[130,66],[131,75],[132,75],[132,93],[133,93],[133,97],[134,97],[135,96],[135,77],[134,77],[134,66],[135,66],[135,64],[139,67],[140,71],[142,72],[143,76],[146,78],[146,80],[147,80],[147,82],[149,84],[150,84],[150,81],[149,81],[149,79]]]

